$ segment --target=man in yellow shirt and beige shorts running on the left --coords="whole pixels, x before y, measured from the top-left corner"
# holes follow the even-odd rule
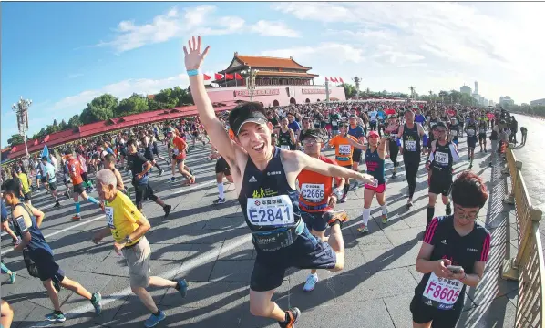
[[[188,282],[185,279],[173,282],[157,276],[149,275],[149,258],[151,249],[144,234],[151,226],[148,219],[137,209],[129,196],[118,191],[118,180],[111,169],[101,169],[97,173],[97,191],[100,199],[105,200],[107,227],[97,231],[93,242],[98,243],[110,233],[114,237],[114,250],[127,261],[129,268],[130,288],[151,312],[146,327],[153,327],[164,320],[166,314],[159,310],[153,298],[146,290],[148,286],[172,287],[185,297]]]

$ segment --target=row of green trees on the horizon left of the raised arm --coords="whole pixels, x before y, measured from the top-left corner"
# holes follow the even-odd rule
[[[77,128],[79,126],[95,123],[109,118],[120,118],[132,114],[139,114],[146,111],[152,111],[163,108],[175,108],[180,106],[193,105],[193,98],[190,95],[190,89],[182,89],[181,87],[170,87],[160,90],[154,97],[146,97],[133,93],[132,96],[119,101],[118,97],[110,94],[104,94],[95,97],[91,102],[87,103],[80,114],[76,114],[68,119],[57,121],[53,120],[53,124],[41,128],[34,136],[27,139],[44,138],[46,135],[63,131],[69,128]],[[10,146],[24,142],[23,136],[15,134],[7,139]]]

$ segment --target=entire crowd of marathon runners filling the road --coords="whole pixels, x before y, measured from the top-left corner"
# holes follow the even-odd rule
[[[271,318],[281,327],[294,327],[300,311],[296,307],[281,309],[272,302],[286,269],[310,270],[303,285],[305,292],[313,291],[318,283],[317,270],[343,270],[341,227],[347,220],[357,220],[357,231],[365,238],[374,199],[381,207],[382,224],[388,224],[386,180],[401,182],[397,174],[402,162],[407,208],[413,206],[418,170],[424,167],[428,172],[427,227],[416,258],[416,270],[424,276],[407,304],[413,326],[456,326],[466,286],[478,286],[490,247],[489,232],[476,221],[488,190],[470,170],[475,149],[478,144],[479,151],[490,153],[491,166],[509,142],[517,142],[516,120],[505,110],[410,101],[276,108],[243,103],[231,112],[216,113],[199,70],[208,48],[201,50],[199,37],[190,40],[184,52],[198,117],[62,145],[50,149],[46,156],[21,160],[2,170],[2,230],[11,236],[13,251],[22,251],[30,275],[46,288],[55,308],[46,320],[66,320],[58,301],[60,288],[87,299],[97,315],[102,310],[101,295],[68,279],[58,266],[40,231],[45,214],[32,205],[32,195],[47,192],[54,208],[61,207],[59,198],[72,199],[71,220],[82,220],[79,198],[104,211],[105,228],[95,233],[92,241],[113,236],[115,251],[122,252],[127,261],[131,290],[150,312],[145,326],[153,327],[166,315],[147,288],[172,287],[185,297],[188,282],[149,275],[151,251],[145,234],[151,226],[141,211],[143,201],[159,204],[165,218],[171,210],[171,205],[154,194],[150,173],[156,168],[161,176],[170,165],[170,189],[194,184],[187,155],[197,143],[211,143],[208,159],[216,161],[218,189],[213,203],[219,206],[225,202],[224,180],[234,184],[257,253],[250,282],[253,315]],[[520,131],[524,144],[526,128]],[[468,170],[455,177],[453,164],[466,160],[458,153],[463,137]],[[167,153],[159,151],[161,143],[167,146]],[[333,159],[324,155],[328,150],[334,150]],[[393,166],[389,178],[387,161]],[[130,172],[130,186],[124,184],[120,170]],[[178,173],[183,183],[178,183]],[[57,193],[61,181],[67,189],[63,194]],[[347,200],[349,190],[360,188],[364,189],[361,218],[348,218],[345,211],[335,210],[337,203]],[[95,191],[97,198],[91,196]],[[447,215],[436,217],[439,194]],[[4,263],[2,272],[15,283],[16,272]],[[8,327],[13,317],[9,304],[2,301],[3,326]]]

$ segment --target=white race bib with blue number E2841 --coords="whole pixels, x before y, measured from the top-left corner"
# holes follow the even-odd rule
[[[292,200],[288,195],[249,198],[246,215],[256,226],[282,226],[295,222]]]

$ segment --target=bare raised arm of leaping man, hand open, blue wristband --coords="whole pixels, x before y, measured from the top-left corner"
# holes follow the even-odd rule
[[[232,163],[235,159],[235,145],[229,138],[227,132],[225,132],[220,119],[216,117],[210,97],[208,97],[204,87],[202,74],[199,72],[199,68],[202,66],[204,58],[208,55],[210,46],[207,46],[204,51],[201,52],[201,36],[198,36],[197,40],[195,40],[195,36],[193,36],[192,39],[188,41],[188,46],[189,49],[186,46],[183,47],[185,67],[190,76],[191,96],[197,106],[199,118],[211,139],[211,143],[216,149],[220,150],[220,154],[223,158]]]

